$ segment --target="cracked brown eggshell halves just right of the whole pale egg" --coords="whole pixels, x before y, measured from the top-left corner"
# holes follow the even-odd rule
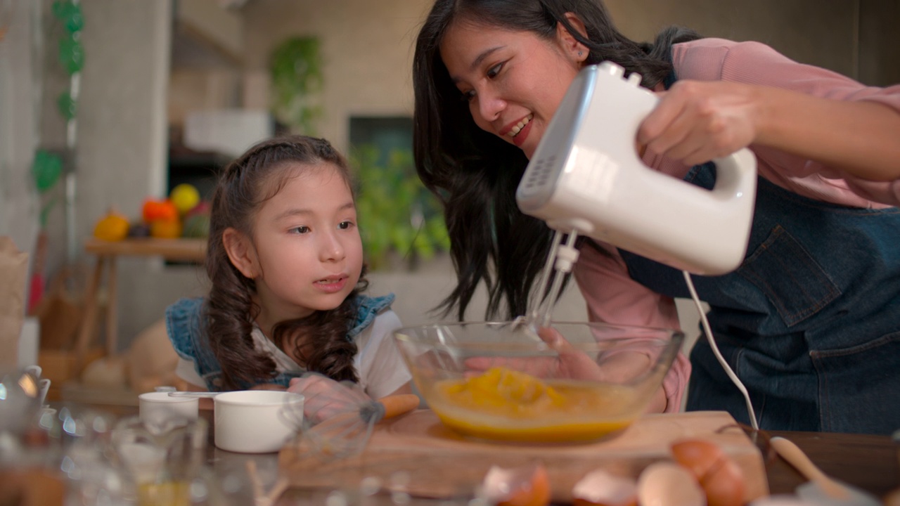
[[[741,467],[716,443],[680,439],[671,445],[672,456],[697,478],[709,506],[741,506],[746,485]]]

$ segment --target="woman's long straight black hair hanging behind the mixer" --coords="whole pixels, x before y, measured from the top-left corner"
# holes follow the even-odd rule
[[[587,37],[572,27],[566,13],[581,19]],[[545,40],[553,40],[562,23],[590,50],[587,64],[614,61],[626,73],[640,73],[648,87],[671,73],[672,44],[699,36],[673,27],[653,44],[631,41],[616,30],[599,0],[436,0],[413,56],[413,154],[422,182],[444,204],[456,269],[457,285],[438,308],[445,315],[456,309],[464,320],[483,281],[489,294],[485,316],[499,314],[504,301],[506,316],[518,316],[527,310],[553,234],[543,221],[518,210],[515,193],[527,167],[525,154],[482,131],[450,80],[440,44],[454,23],[534,32]]]

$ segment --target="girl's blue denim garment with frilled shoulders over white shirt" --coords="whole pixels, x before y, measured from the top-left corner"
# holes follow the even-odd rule
[[[372,325],[378,313],[390,307],[393,300],[393,294],[381,297],[357,295],[356,322],[353,328],[347,332],[347,340],[353,341],[357,334]],[[178,356],[193,361],[194,369],[203,378],[207,390],[220,392],[222,389],[221,366],[206,339],[203,324],[203,299],[184,298],[168,306],[166,308],[166,332]],[[247,390],[260,383],[280,384],[286,388],[290,384],[291,378],[300,377],[304,372],[303,370],[286,371],[272,377],[260,378],[257,383],[241,382],[238,388]]]

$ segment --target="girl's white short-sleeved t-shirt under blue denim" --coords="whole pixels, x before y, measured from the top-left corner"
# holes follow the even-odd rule
[[[353,365],[356,367],[356,374],[359,375],[360,386],[373,399],[380,399],[393,393],[409,383],[412,378],[393,339],[393,331],[400,328],[401,321],[397,313],[388,309],[375,316],[372,324],[354,338],[358,350]],[[253,329],[250,336],[258,351],[265,351],[275,360],[275,370],[279,373],[290,372],[299,375],[306,372],[305,368],[276,347],[274,342],[266,339],[258,327]],[[175,368],[175,374],[189,384],[206,388],[206,382],[197,374],[193,360],[181,358]]]

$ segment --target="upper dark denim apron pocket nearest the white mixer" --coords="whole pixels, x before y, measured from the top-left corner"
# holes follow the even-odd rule
[[[823,268],[780,225],[737,274],[766,294],[788,327],[821,311],[841,294]]]

